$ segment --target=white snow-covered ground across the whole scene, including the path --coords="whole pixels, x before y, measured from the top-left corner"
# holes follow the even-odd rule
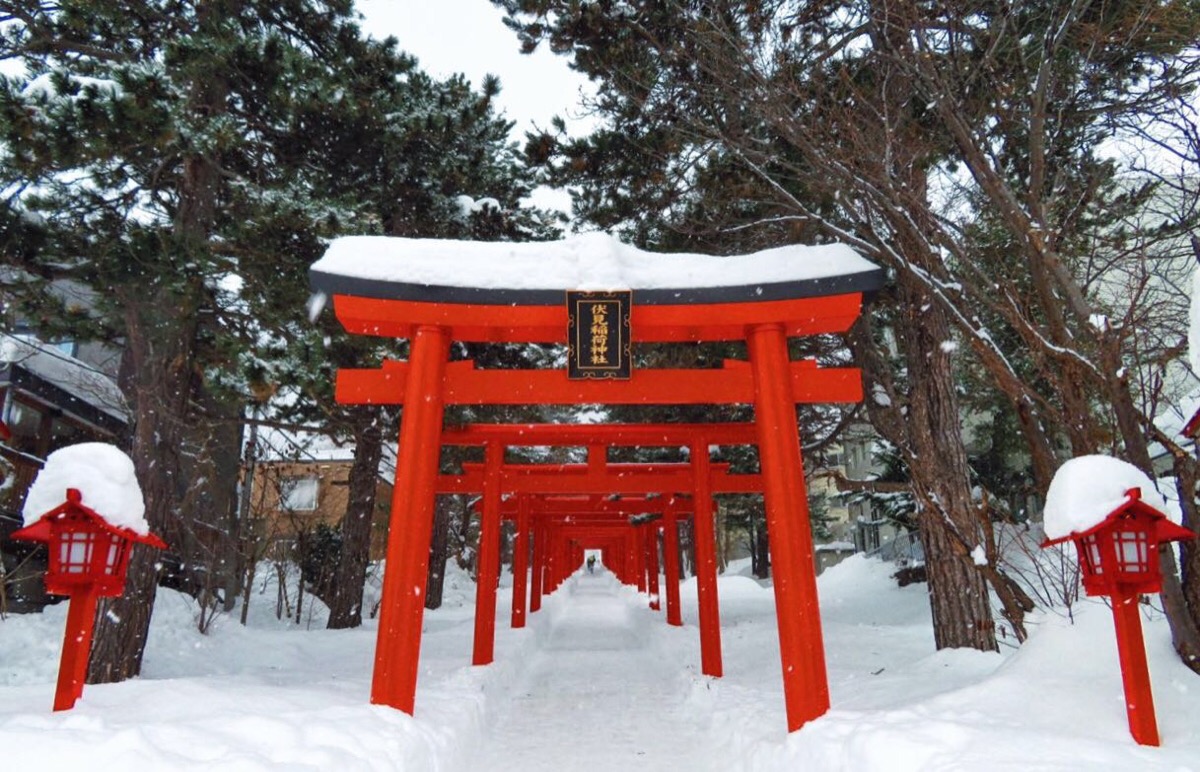
[[[220,617],[209,635],[162,592],[142,678],[49,710],[65,605],[0,622],[4,770],[1200,770],[1200,680],[1147,608],[1162,748],[1126,725],[1109,610],[1032,620],[1000,654],[935,652],[924,586],[847,559],[818,580],[833,710],[792,735],[769,587],[720,580],[725,677],[700,675],[696,590],[684,627],[602,570],[572,577],[496,663],[469,664],[473,592],[451,575],[426,615],[416,716],[371,706],[374,627]],[[502,588],[498,618],[508,620]]]

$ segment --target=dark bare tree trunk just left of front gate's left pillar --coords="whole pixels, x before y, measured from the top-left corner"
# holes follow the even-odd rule
[[[342,517],[342,549],[334,570],[329,628],[362,624],[362,587],[371,562],[371,526],[374,520],[376,480],[383,459],[383,415],[378,407],[355,407],[354,463],[349,501]]]

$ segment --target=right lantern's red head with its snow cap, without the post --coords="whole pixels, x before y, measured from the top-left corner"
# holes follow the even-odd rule
[[[1090,596],[1158,592],[1158,545],[1194,537],[1165,510],[1138,467],[1110,456],[1072,459],[1046,491],[1042,546],[1074,541]]]

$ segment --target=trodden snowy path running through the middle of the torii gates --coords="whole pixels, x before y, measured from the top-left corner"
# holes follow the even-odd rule
[[[643,608],[606,575],[569,586],[522,663],[473,768],[494,772],[704,770],[709,718],[689,702],[686,663],[652,646]],[[697,720],[700,719],[700,720]]]

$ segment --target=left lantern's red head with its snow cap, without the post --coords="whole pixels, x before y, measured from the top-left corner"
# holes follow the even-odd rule
[[[83,443],[46,460],[25,498],[26,526],[12,538],[47,544],[47,592],[90,588],[115,597],[125,587],[132,544],[167,546],[150,533],[144,514],[128,456],[113,445]]]

